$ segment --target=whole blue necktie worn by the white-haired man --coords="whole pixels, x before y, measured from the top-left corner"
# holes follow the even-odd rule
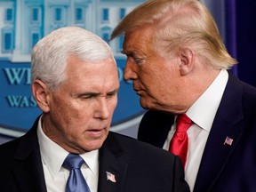
[[[90,188],[80,170],[82,164],[84,164],[84,159],[81,156],[69,154],[66,157],[62,164],[63,167],[70,171],[66,192],[90,192]]]

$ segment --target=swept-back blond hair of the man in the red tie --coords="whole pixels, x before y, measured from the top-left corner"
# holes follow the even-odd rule
[[[211,13],[199,0],[149,0],[126,15],[110,39],[146,25],[155,30],[151,46],[156,51],[172,54],[189,46],[213,68],[231,68],[237,62],[228,54]]]

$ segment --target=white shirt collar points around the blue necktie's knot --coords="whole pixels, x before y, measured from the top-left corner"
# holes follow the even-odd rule
[[[60,172],[60,168],[68,156],[68,151],[61,148],[57,143],[50,140],[43,132],[40,117],[37,125],[37,137],[42,157],[42,162],[47,166],[47,169],[55,178]],[[88,167],[92,170],[94,174],[98,175],[99,172],[99,149],[80,154],[84,159]]]

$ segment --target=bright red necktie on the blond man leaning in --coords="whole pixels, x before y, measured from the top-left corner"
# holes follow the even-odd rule
[[[173,134],[169,151],[176,156],[180,156],[183,167],[185,168],[188,153],[188,134],[187,130],[192,124],[191,119],[186,114],[181,114],[176,119],[176,132]]]

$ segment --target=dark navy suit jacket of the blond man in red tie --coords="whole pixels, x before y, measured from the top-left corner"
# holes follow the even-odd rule
[[[138,139],[163,148],[174,116],[148,111]],[[226,137],[232,145],[224,145]],[[195,192],[256,191],[256,89],[228,75],[196,177]]]

